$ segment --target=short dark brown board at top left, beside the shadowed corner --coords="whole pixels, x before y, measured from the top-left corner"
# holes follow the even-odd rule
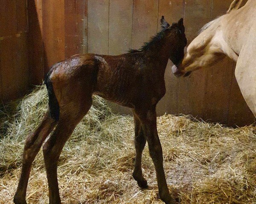
[[[17,32],[23,33],[28,29],[27,0],[16,1]]]

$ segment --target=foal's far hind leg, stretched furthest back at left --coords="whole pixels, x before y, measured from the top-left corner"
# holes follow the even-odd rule
[[[44,140],[55,125],[55,120],[51,118],[49,111],[47,111],[40,125],[38,125],[36,130],[27,137],[23,150],[20,181],[13,199],[15,204],[26,204],[26,189],[29,181],[32,162],[34,161],[35,156],[40,150]]]

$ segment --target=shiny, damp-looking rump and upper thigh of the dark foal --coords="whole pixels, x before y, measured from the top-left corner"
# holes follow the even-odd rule
[[[74,55],[53,65],[48,73],[48,80],[60,109],[67,110],[90,100],[96,75],[93,54]]]

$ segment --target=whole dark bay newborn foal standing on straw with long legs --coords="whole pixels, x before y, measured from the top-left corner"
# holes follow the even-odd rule
[[[132,108],[135,126],[135,166],[133,177],[142,188],[148,187],[142,175],[141,156],[148,142],[157,174],[160,198],[174,204],[163,169],[163,153],[157,134],[157,102],[165,95],[164,73],[168,59],[179,64],[186,46],[183,19],[169,25],[161,19],[162,30],[150,42],[118,56],[78,54],[52,66],[45,78],[49,108],[37,129],[25,142],[20,181],[15,204],[26,204],[26,188],[31,165],[42,143],[49,185],[49,203],[60,204],[57,163],[61,150],[97,94],[119,105]]]

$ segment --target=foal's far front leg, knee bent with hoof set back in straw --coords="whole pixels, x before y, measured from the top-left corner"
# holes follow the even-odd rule
[[[134,114],[134,132],[135,132],[134,146],[135,146],[136,156],[135,156],[133,177],[137,181],[139,187],[147,188],[148,183],[146,179],[143,178],[142,169],[141,169],[141,158],[142,158],[143,149],[146,144],[146,139],[143,133],[140,119],[137,117],[136,114]]]

